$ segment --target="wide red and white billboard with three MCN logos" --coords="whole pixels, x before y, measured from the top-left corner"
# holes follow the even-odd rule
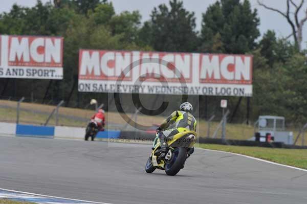
[[[79,51],[79,92],[252,96],[251,55]]]

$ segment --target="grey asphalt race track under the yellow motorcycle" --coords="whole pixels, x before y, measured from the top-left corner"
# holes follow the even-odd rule
[[[108,203],[307,203],[307,172],[196,149],[177,176],[150,146],[0,137],[0,188]]]

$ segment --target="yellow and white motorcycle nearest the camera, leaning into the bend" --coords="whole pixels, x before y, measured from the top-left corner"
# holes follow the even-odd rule
[[[152,173],[156,169],[165,170],[167,175],[176,175],[185,164],[186,159],[192,153],[191,150],[196,142],[197,133],[194,131],[180,132],[171,138],[167,138],[168,152],[160,152],[159,132],[153,141],[152,152],[147,160],[145,170]]]

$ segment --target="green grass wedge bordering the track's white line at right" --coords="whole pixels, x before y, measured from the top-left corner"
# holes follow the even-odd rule
[[[307,149],[281,149],[266,147],[244,147],[213,144],[198,144],[205,149],[222,150],[262,158],[279,164],[307,169]]]

